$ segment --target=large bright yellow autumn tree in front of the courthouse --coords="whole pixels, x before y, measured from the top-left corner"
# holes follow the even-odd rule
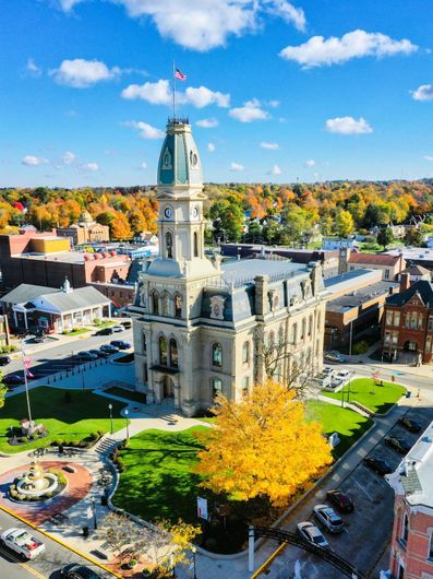
[[[318,423],[305,421],[296,392],[267,381],[239,402],[218,397],[216,426],[202,441],[196,472],[202,486],[240,500],[267,498],[287,504],[300,487],[332,462]]]

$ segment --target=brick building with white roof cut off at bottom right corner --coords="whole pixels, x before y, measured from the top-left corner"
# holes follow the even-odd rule
[[[388,476],[396,494],[389,568],[395,579],[433,578],[433,423]]]

